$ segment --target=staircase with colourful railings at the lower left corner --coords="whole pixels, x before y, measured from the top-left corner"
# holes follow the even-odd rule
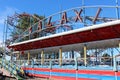
[[[23,69],[8,60],[2,59],[1,60],[1,71],[3,71],[3,74],[5,74],[6,76],[12,76],[15,77],[17,80],[24,80],[25,78],[25,73],[23,71]]]

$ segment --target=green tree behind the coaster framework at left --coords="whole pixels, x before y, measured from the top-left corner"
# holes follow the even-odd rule
[[[27,14],[25,12],[22,14],[19,14],[16,28],[10,34],[13,41],[15,39],[17,39],[25,30],[32,27],[32,25],[39,22],[39,20],[42,20],[43,18],[45,18],[45,17],[39,16],[38,14],[30,15],[30,14]]]

